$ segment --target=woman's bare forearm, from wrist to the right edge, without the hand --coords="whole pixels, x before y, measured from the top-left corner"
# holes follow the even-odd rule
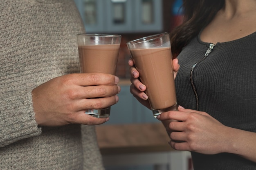
[[[225,152],[240,155],[256,162],[256,133],[240,129],[228,128],[227,148]]]

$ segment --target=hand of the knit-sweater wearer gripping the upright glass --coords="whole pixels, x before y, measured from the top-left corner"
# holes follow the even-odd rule
[[[85,109],[103,109],[118,102],[119,78],[110,74],[68,74],[53,78],[32,91],[36,122],[41,126],[95,125],[109,118],[94,118]]]

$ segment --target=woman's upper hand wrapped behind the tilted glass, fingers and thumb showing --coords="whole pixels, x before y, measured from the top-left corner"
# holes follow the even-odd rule
[[[150,104],[148,102],[148,96],[144,92],[146,90],[146,86],[141,83],[139,80],[139,72],[136,70],[134,66],[134,62],[132,59],[128,61],[130,65],[130,73],[131,73],[131,85],[130,85],[130,92],[131,94],[144,106],[151,109]],[[178,59],[173,59],[173,71],[174,71],[174,78],[176,78],[177,72],[180,68],[178,63]]]

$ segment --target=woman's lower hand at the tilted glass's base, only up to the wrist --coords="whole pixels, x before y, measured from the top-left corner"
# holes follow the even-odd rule
[[[174,119],[166,126],[170,131],[170,145],[176,150],[189,150],[203,154],[222,153],[227,147],[227,126],[202,111],[178,107],[178,111],[162,113],[159,120]]]

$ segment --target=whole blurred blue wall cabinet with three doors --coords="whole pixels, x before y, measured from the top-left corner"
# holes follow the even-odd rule
[[[87,33],[161,32],[162,0],[75,0]]]

